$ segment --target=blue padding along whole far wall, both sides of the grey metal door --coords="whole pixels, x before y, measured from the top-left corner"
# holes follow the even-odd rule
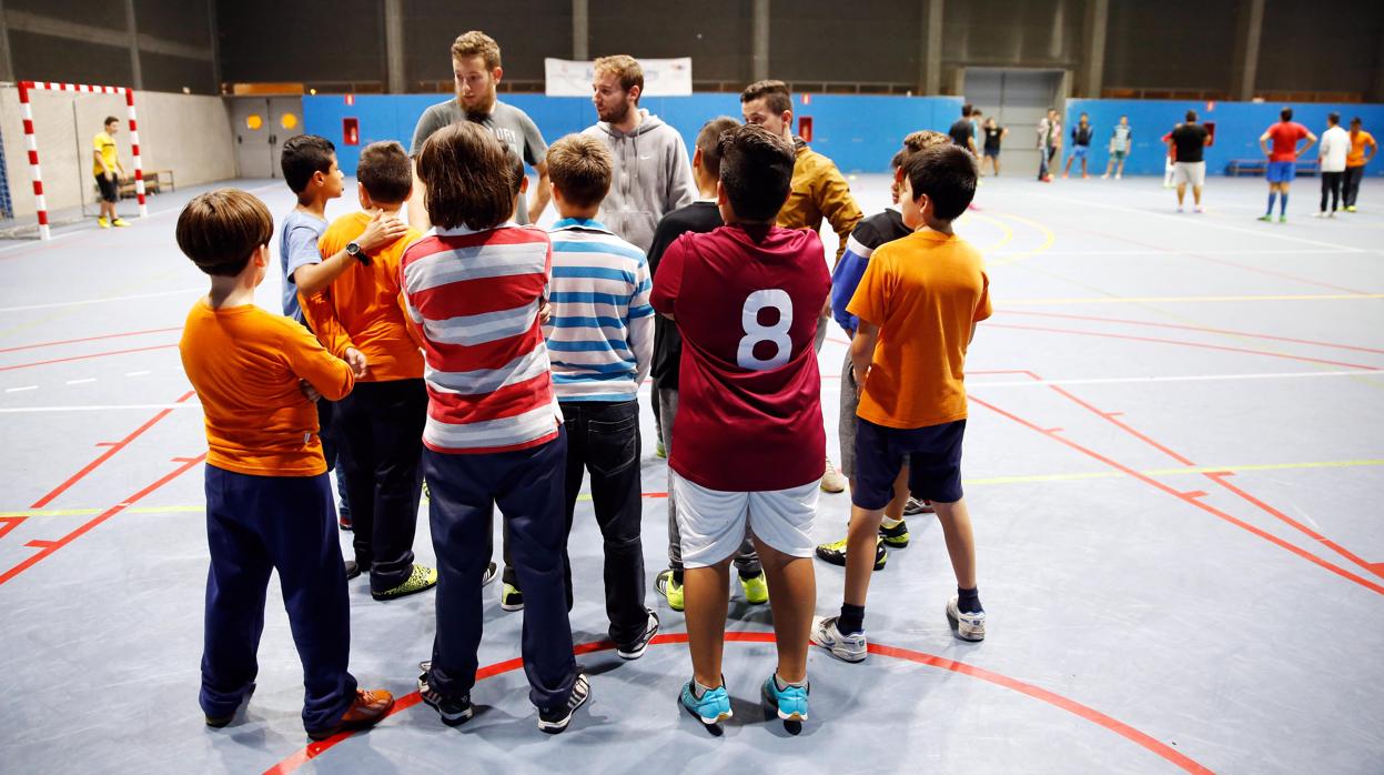
[[[336,144],[336,155],[343,170],[354,174],[360,148],[376,140],[397,140],[408,148],[418,116],[429,105],[440,102],[444,94],[360,94],[354,105],[342,95],[303,97],[303,129],[321,134]],[[533,118],[548,143],[595,123],[595,108],[585,97],[547,97],[544,94],[502,94],[501,100]],[[909,131],[931,129],[947,131],[960,116],[960,97],[883,97],[862,94],[812,94],[793,97],[796,116],[812,118],[812,148],[826,154],[846,173],[877,173],[889,170],[889,161],[898,151],[900,141]],[[739,118],[738,94],[693,94],[691,97],[649,97],[642,105],[682,133],[688,148],[702,125],[711,118],[728,115]],[[1067,144],[1070,127],[1081,112],[1091,113],[1095,136],[1091,148],[1091,169],[1104,172],[1110,130],[1121,115],[1129,116],[1135,147],[1125,162],[1127,174],[1163,174],[1164,148],[1158,143],[1187,109],[1194,109],[1201,120],[1215,122],[1215,144],[1207,148],[1207,173],[1223,174],[1230,159],[1262,158],[1258,137],[1277,120],[1282,105],[1271,102],[1207,102],[1178,100],[1068,100]],[[1326,129],[1326,113],[1337,111],[1341,123],[1360,116],[1365,127],[1384,141],[1384,105],[1294,105],[1294,120],[1306,125],[1316,134]],[[342,138],[342,119],[360,122],[360,145],[346,145]],[[796,122],[796,118],[794,118]],[[794,127],[796,129],[796,127]],[[1030,143],[1032,127],[1009,127],[1008,144]],[[1316,158],[1313,149],[1309,159]],[[1384,174],[1384,163],[1370,165],[1367,174]]]

